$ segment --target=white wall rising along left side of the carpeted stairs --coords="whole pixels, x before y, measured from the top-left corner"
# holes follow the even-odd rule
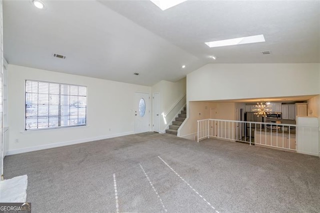
[[[159,132],[162,133],[185,104],[186,78],[184,77],[176,82],[161,80],[154,84],[151,90],[152,93],[159,92]],[[181,101],[178,103],[177,101],[180,99]],[[166,114],[164,118],[161,115],[162,113]]]

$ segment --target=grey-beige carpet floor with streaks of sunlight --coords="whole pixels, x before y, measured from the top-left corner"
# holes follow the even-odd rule
[[[171,134],[9,155],[32,212],[320,212],[320,158]]]

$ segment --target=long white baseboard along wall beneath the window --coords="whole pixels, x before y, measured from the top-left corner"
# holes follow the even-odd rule
[[[26,147],[26,148],[18,148],[18,149],[8,150],[6,152],[6,155],[19,154],[19,153],[24,153],[24,152],[29,152],[29,151],[36,151],[36,150],[54,148],[54,147],[59,147],[59,146],[64,146],[64,145],[72,145],[72,144],[83,143],[83,142],[90,142],[90,141],[94,141],[94,140],[102,140],[102,139],[107,139],[107,138],[112,138],[112,137],[129,135],[129,134],[133,134],[133,133],[134,133],[133,131],[128,131],[128,132],[109,134],[109,135],[103,135],[103,136],[97,136],[97,137],[89,137],[89,138],[84,138],[84,139],[79,139],[79,140],[70,140],[70,141],[65,141],[65,142],[57,142],[57,143],[31,146],[31,147]]]

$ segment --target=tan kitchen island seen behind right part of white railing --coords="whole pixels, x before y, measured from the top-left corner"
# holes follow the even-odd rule
[[[295,150],[295,129],[257,129],[254,131],[254,144]]]

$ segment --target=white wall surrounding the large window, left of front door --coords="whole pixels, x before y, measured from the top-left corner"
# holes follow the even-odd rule
[[[25,131],[24,86],[26,79],[87,86],[87,126]],[[151,87],[9,64],[8,153],[133,133],[135,91],[150,93]]]

